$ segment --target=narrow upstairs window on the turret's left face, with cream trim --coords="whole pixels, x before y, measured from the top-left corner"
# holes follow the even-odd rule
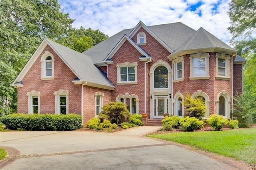
[[[174,83],[184,80],[184,57],[174,59]]]

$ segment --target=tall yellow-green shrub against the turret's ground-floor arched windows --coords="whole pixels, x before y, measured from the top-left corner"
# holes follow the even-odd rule
[[[182,104],[186,108],[187,116],[189,117],[204,117],[206,113],[205,101],[201,97],[193,99],[190,94],[184,96]]]

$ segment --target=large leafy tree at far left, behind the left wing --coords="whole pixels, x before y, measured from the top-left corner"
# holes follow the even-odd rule
[[[16,97],[10,84],[42,39],[65,36],[73,21],[57,0],[0,0],[1,100]]]

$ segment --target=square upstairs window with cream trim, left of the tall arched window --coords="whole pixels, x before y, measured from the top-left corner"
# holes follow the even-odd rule
[[[125,62],[117,64],[116,84],[137,84],[137,63]]]

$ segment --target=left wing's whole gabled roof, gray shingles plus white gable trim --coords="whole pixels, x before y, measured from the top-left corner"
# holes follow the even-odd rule
[[[88,83],[88,85],[94,87],[112,90],[114,89],[112,83],[108,81],[103,73],[92,63],[90,57],[46,38],[39,45],[36,52],[24,66],[12,85],[22,81],[23,77],[26,75],[47,44],[50,45],[60,59],[62,59],[69,69],[78,77],[81,83]],[[77,80],[74,82],[77,82]]]

